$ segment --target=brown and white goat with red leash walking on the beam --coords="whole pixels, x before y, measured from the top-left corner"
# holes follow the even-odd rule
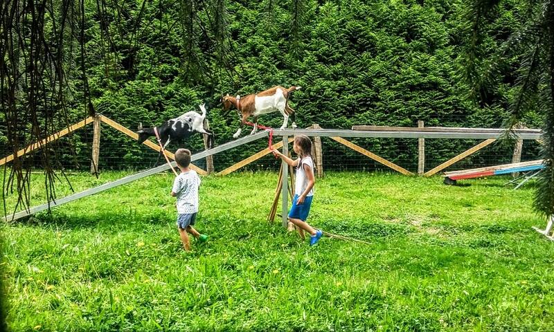
[[[260,93],[253,93],[251,95],[245,95],[240,97],[232,97],[229,93],[222,97],[223,110],[229,113],[231,106],[234,106],[240,117],[240,126],[237,132],[233,135],[233,138],[238,138],[242,131],[242,127],[247,122],[249,116],[254,118],[254,129],[251,131],[251,135],[258,131],[258,116],[271,112],[279,111],[283,114],[283,126],[280,129],[285,129],[289,123],[289,116],[292,118],[292,128],[296,128],[294,109],[288,105],[289,97],[293,91],[299,90],[300,86],[291,86],[289,89],[283,88],[283,86],[274,86],[271,89],[267,89]]]

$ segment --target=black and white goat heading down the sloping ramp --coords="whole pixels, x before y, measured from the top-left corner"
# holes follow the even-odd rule
[[[206,118],[205,104],[199,105],[202,110],[202,115],[195,111],[186,112],[178,118],[167,120],[158,127],[155,127],[158,131],[163,149],[173,141],[181,141],[184,138],[193,136],[194,133],[205,133],[208,135],[208,149],[213,147],[213,131],[204,129],[204,119]],[[142,124],[139,124],[139,143],[144,142],[150,136],[156,137],[154,127],[143,128]]]

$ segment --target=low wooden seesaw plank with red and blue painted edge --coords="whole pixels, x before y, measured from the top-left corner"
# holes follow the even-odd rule
[[[445,183],[454,184],[456,180],[464,178],[479,178],[481,176],[494,176],[500,174],[510,174],[516,172],[528,172],[536,169],[543,169],[544,163],[542,159],[526,161],[524,163],[512,163],[490,167],[481,167],[474,169],[465,169],[463,171],[445,172]],[[453,181],[449,183],[449,181]]]

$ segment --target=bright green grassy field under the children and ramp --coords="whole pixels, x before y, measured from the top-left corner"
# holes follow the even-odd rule
[[[80,190],[119,176],[71,179]],[[197,229],[211,238],[187,253],[172,176],[151,176],[1,226],[8,320],[14,331],[554,331],[554,243],[530,228],[545,224],[533,187],[506,180],[327,174],[310,223],[372,244],[310,248],[265,220],[276,174],[207,177]]]

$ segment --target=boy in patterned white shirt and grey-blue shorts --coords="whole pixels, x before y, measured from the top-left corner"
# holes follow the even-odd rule
[[[190,151],[188,149],[178,149],[175,152],[175,162],[181,169],[181,174],[173,181],[171,196],[177,197],[177,227],[183,242],[183,248],[190,251],[190,241],[188,234],[199,239],[201,242],[208,240],[208,236],[200,234],[193,228],[198,213],[198,188],[200,187],[200,178],[198,174],[190,169]]]

